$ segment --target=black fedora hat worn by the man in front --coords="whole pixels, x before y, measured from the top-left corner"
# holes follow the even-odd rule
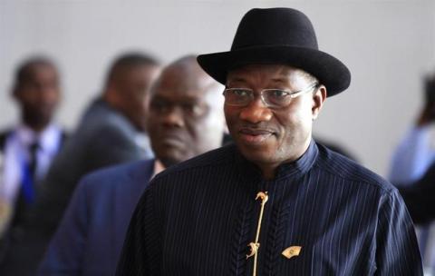
[[[313,74],[328,96],[351,83],[349,69],[331,54],[319,51],[314,27],[303,13],[291,8],[255,8],[243,16],[231,50],[198,55],[201,67],[225,84],[228,70],[247,64],[288,64]]]

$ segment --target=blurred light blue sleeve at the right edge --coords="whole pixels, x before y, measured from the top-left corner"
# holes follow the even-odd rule
[[[428,127],[414,127],[401,140],[391,159],[390,181],[409,183],[426,172],[435,153]]]

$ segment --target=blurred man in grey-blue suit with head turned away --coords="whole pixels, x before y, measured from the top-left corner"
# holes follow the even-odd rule
[[[147,54],[123,54],[111,64],[102,95],[87,108],[53,161],[34,211],[26,218],[24,238],[7,253],[0,274],[34,273],[84,174],[152,156],[145,133],[146,107],[159,71],[159,63]]]

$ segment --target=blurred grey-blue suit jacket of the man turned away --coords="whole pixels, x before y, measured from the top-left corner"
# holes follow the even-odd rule
[[[125,116],[102,100],[91,104],[75,133],[53,160],[34,210],[26,220],[24,237],[14,243],[3,270],[0,267],[0,275],[34,274],[84,174],[152,155],[150,149],[144,150],[136,143],[137,134],[138,130]]]

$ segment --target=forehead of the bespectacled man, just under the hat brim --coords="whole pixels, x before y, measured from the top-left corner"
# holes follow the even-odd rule
[[[285,64],[249,64],[227,74],[231,83],[283,83],[295,84],[304,79],[304,71]]]

